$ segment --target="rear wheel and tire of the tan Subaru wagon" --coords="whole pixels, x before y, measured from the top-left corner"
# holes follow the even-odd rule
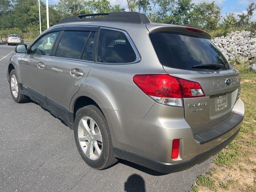
[[[86,124],[87,129],[84,126]],[[92,125],[94,125],[93,128]],[[102,142],[100,142],[99,136],[101,136]],[[108,123],[96,106],[88,105],[76,112],[74,137],[82,159],[90,167],[102,170],[117,162]],[[101,152],[98,152],[99,149]]]

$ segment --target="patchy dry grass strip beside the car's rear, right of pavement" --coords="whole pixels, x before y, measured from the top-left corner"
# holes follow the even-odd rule
[[[245,117],[240,133],[225,149],[218,153],[212,170],[205,174],[212,185],[196,181],[191,191],[199,192],[256,192],[256,73],[248,64],[236,66],[242,78],[241,99]]]

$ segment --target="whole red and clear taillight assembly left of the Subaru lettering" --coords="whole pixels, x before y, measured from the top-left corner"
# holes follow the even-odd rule
[[[199,83],[168,74],[140,74],[134,83],[148,96],[161,104],[183,106],[182,98],[204,96]]]

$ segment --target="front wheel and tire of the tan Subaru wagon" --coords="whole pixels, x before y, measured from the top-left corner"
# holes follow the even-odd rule
[[[15,69],[13,69],[10,72],[9,86],[10,86],[10,92],[11,92],[12,98],[16,103],[28,102],[28,100],[29,100],[28,97],[21,94],[21,92],[20,92],[20,85],[18,83],[18,78],[17,78]],[[16,90],[17,90],[17,92],[16,92]]]

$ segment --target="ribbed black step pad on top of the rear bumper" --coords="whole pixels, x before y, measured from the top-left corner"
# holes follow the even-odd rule
[[[200,144],[210,142],[234,129],[238,124],[240,124],[240,122],[242,122],[243,118],[244,116],[233,113],[230,118],[222,124],[198,134],[194,134],[194,138],[200,142]]]

